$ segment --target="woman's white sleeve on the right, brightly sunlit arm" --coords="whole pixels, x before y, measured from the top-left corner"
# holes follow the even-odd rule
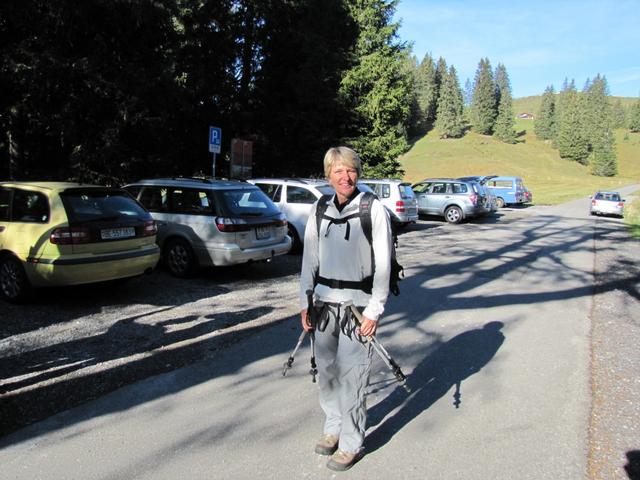
[[[391,274],[391,224],[389,215],[379,200],[371,204],[371,237],[375,269],[371,298],[363,315],[372,320],[384,312],[384,305],[389,296],[389,275]]]

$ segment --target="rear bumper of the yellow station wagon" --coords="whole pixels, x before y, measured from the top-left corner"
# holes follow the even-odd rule
[[[29,258],[24,266],[35,287],[80,285],[142,275],[153,269],[159,258],[160,249],[154,244],[111,254]]]

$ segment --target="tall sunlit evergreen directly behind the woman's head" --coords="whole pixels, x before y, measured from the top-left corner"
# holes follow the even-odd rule
[[[358,27],[354,66],[342,79],[345,111],[344,142],[365,163],[368,176],[397,176],[397,158],[409,149],[407,125],[411,113],[413,72],[407,68],[408,49],[397,42],[392,22],[397,0],[349,0]]]

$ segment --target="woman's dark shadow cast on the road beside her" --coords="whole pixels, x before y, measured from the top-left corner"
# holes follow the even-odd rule
[[[442,343],[407,377],[410,394],[399,387],[370,409],[365,440],[368,452],[384,446],[414,418],[455,387],[453,405],[462,405],[462,382],[479,372],[494,357],[504,335],[502,322],[489,322]]]

